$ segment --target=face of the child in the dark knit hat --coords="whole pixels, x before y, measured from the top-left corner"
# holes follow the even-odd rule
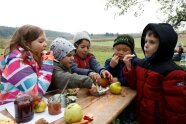
[[[118,44],[114,46],[114,55],[118,56],[120,60],[123,60],[125,55],[132,54],[132,51],[129,46],[125,44]]]

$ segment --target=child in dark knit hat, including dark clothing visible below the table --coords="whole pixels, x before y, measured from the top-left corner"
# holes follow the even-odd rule
[[[119,35],[113,43],[113,56],[105,61],[105,68],[114,78],[117,78],[122,86],[128,86],[123,76],[123,67],[125,66],[123,58],[127,54],[135,55],[134,46],[134,38],[132,36],[128,34]],[[133,121],[132,109],[133,103],[118,116],[121,124],[130,124]]]

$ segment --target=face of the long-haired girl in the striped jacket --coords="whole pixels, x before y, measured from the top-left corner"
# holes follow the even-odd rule
[[[42,34],[31,43],[26,43],[26,45],[35,55],[41,57],[41,52],[47,48],[46,37]]]

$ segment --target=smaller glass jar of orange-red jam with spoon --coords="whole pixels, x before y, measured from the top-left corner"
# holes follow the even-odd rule
[[[51,115],[58,115],[61,113],[61,103],[59,99],[54,96],[48,99],[48,113]]]

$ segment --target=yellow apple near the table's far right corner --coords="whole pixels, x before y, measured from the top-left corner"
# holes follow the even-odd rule
[[[120,82],[114,82],[112,83],[110,86],[109,86],[109,89],[110,89],[110,92],[112,94],[121,94],[121,91],[122,91],[122,87],[121,87],[121,84]]]

